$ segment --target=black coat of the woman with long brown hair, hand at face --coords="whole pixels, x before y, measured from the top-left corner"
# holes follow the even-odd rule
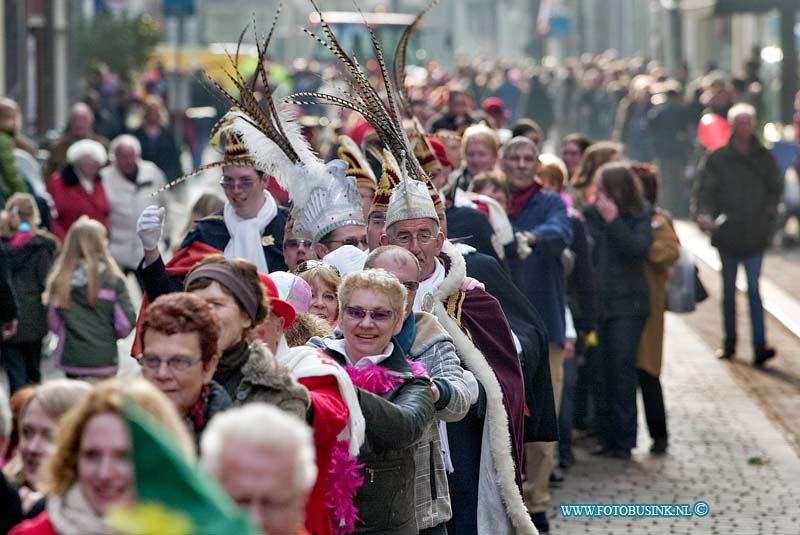
[[[620,214],[606,223],[594,205],[583,211],[597,281],[598,319],[645,318],[650,313],[644,260],[650,248],[650,211]]]

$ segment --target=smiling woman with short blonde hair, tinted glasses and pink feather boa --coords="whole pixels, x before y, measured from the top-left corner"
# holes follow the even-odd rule
[[[382,269],[354,272],[339,288],[341,333],[312,343],[345,367],[357,387],[366,440],[356,462],[363,483],[339,480],[334,497],[354,496],[351,507],[336,503],[334,525],[355,533],[418,533],[414,509],[417,442],[433,422],[430,379],[406,360],[393,341],[403,326],[406,288]],[[334,501],[336,501],[334,499]],[[344,514],[342,514],[344,512]]]

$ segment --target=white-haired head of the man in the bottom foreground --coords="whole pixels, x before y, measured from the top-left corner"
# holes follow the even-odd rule
[[[306,499],[317,478],[311,429],[263,403],[214,418],[200,466],[217,478],[265,535],[305,535]]]

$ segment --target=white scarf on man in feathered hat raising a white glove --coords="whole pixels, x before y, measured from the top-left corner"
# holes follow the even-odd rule
[[[225,258],[244,258],[254,263],[261,273],[269,273],[261,245],[261,233],[278,215],[278,205],[275,204],[272,195],[264,192],[264,206],[255,217],[249,219],[239,217],[229,202],[225,203],[222,215],[225,227],[231,236],[228,245],[225,246]]]

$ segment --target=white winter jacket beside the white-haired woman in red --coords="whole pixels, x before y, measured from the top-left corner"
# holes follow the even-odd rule
[[[147,206],[154,204],[156,199],[152,194],[166,180],[164,173],[152,162],[139,160],[137,166],[135,182],[125,178],[116,165],[100,171],[110,210],[108,247],[114,260],[129,269],[135,269],[144,255],[142,242],[136,235],[136,221]]]

